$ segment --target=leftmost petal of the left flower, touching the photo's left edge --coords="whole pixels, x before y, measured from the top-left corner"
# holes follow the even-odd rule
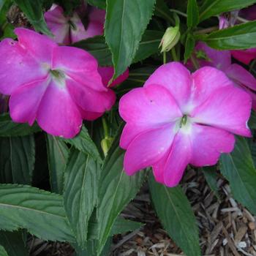
[[[29,48],[9,38],[0,42],[0,66],[1,94],[12,94],[18,86],[48,75],[48,70],[31,56]]]

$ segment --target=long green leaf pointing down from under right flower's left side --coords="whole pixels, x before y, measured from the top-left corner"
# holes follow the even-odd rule
[[[145,172],[134,176],[124,173],[124,151],[118,147],[119,136],[113,142],[102,167],[99,181],[99,252],[110,236],[116,218],[143,184]]]

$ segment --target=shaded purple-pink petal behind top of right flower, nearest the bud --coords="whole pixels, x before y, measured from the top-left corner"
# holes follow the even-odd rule
[[[208,47],[204,42],[197,43],[195,56],[197,57],[200,67],[211,66],[223,70],[231,64],[230,50],[215,50]],[[206,59],[203,59],[202,56],[205,56]]]

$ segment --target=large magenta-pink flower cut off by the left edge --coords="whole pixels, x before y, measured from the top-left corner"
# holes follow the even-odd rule
[[[93,56],[29,29],[15,34],[18,42],[0,42],[0,93],[10,95],[13,121],[37,120],[51,135],[72,138],[82,119],[95,119],[112,107],[115,94],[102,84]]]

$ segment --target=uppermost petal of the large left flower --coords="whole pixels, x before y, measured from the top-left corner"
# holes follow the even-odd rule
[[[58,45],[50,37],[30,29],[15,29],[20,47],[29,50],[29,54],[41,64],[50,65],[53,49]]]

